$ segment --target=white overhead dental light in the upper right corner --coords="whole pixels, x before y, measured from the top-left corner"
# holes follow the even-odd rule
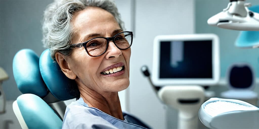
[[[230,0],[226,9],[208,19],[208,24],[224,29],[259,31],[259,13],[250,11],[245,0]]]

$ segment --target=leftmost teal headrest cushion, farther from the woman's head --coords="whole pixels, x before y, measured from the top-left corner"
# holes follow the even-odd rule
[[[44,97],[48,90],[39,69],[39,57],[30,49],[22,49],[13,58],[13,76],[21,93]]]

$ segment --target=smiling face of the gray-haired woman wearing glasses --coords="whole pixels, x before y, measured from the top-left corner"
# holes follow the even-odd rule
[[[98,7],[88,7],[74,14],[72,21],[75,35],[73,44],[82,43],[95,37],[113,37],[122,32],[113,15]],[[130,84],[129,64],[131,49],[119,50],[112,41],[107,51],[99,57],[91,57],[84,47],[73,49],[67,60],[68,67],[77,76],[79,85],[87,86],[96,92],[118,92]],[[103,74],[109,69],[120,70],[113,74]],[[120,67],[120,68],[118,68]],[[116,70],[114,70],[116,71]],[[113,71],[113,72],[114,72]]]

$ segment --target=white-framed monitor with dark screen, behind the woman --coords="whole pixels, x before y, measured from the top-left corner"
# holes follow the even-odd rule
[[[217,35],[155,37],[151,75],[155,85],[214,85],[219,81],[219,71]]]

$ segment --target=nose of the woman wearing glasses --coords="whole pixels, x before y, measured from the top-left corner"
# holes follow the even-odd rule
[[[118,58],[122,54],[121,50],[112,41],[109,42],[106,52],[105,58],[107,60],[110,58]]]

